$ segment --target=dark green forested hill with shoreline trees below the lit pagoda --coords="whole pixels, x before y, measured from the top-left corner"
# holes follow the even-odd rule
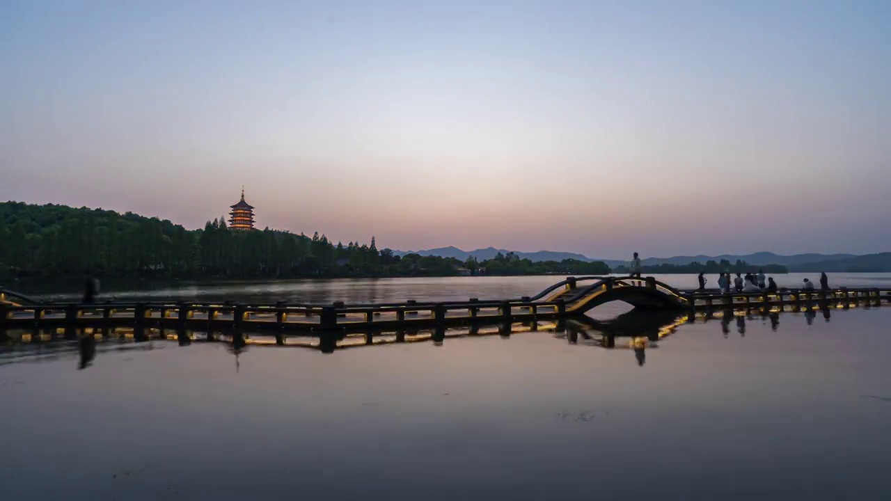
[[[609,273],[603,263],[532,263],[499,254],[478,262],[330,242],[324,235],[233,231],[225,219],[186,230],[167,220],[112,210],[0,202],[0,276],[448,276]],[[465,271],[462,267],[466,267]]]

